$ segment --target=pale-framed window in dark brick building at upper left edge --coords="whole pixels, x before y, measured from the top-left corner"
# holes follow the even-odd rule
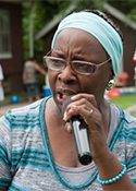
[[[0,59],[11,58],[10,13],[0,10]]]

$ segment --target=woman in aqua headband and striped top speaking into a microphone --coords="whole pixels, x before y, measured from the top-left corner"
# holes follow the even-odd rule
[[[136,119],[103,98],[123,56],[119,31],[100,12],[73,13],[60,23],[51,49],[44,61],[52,97],[1,119],[1,189],[136,190]],[[77,157],[74,116],[87,124],[88,165]]]

